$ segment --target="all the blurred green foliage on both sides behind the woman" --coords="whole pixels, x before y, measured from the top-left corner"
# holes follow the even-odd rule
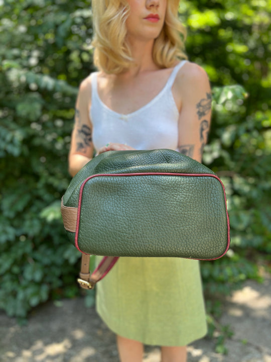
[[[79,294],[60,199],[78,85],[93,71],[91,6],[0,0],[0,13],[0,308],[24,318]],[[180,4],[190,60],[213,88],[203,163],[225,184],[231,224],[227,256],[201,264],[207,302],[270,266],[270,13],[267,0]]]

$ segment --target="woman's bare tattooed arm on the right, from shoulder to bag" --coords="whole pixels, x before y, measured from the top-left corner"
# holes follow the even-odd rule
[[[178,151],[201,162],[211,123],[208,76],[197,64],[188,63],[177,75],[175,87],[182,101]]]

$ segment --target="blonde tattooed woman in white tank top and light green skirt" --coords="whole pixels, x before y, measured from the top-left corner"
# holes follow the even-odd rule
[[[211,91],[205,71],[185,60],[178,5],[92,1],[99,71],[80,85],[71,175],[94,150],[171,148],[201,161]],[[144,344],[161,345],[163,362],[184,362],[186,345],[206,333],[196,260],[119,258],[99,282],[96,308],[117,334],[121,362],[142,361]]]

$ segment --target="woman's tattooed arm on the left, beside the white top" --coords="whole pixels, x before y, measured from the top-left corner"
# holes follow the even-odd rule
[[[82,81],[75,106],[75,122],[69,152],[69,172],[74,176],[93,157],[92,124],[89,118],[90,78]]]

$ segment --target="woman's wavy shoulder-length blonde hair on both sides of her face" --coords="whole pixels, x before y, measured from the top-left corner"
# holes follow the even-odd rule
[[[178,18],[180,0],[168,0],[164,27],[155,39],[153,59],[161,68],[170,68],[184,53],[186,30]],[[105,73],[118,74],[134,65],[126,41],[126,19],[129,5],[126,0],[92,0],[94,64]]]

